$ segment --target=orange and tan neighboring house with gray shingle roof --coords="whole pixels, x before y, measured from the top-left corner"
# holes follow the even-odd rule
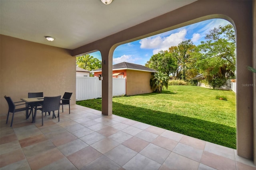
[[[90,71],[95,77],[102,74],[102,69]],[[154,69],[150,69],[143,65],[122,62],[113,65],[113,78],[126,79],[126,95],[138,95],[144,93],[152,93],[150,88],[150,78],[152,73],[156,73]]]

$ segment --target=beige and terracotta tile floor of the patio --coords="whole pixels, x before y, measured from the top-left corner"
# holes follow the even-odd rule
[[[236,150],[100,111],[64,106],[36,123],[0,120],[1,170],[256,170]]]

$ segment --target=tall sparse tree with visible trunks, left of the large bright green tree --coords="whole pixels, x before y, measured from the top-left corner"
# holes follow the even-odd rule
[[[176,77],[183,79],[186,78],[186,72],[190,69],[192,62],[192,53],[196,46],[191,40],[187,40],[169,48],[169,53],[177,59]]]

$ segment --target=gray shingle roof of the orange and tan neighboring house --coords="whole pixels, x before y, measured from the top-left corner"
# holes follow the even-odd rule
[[[118,64],[114,64],[113,65],[113,70],[121,70],[121,69],[132,69],[132,70],[142,70],[142,71],[149,71],[149,72],[157,72],[154,69],[150,69],[150,68],[145,67],[143,65],[134,64],[134,63],[122,62],[122,63],[118,63]],[[100,69],[93,70],[93,72],[94,71],[101,71],[101,70],[102,69],[100,68]]]

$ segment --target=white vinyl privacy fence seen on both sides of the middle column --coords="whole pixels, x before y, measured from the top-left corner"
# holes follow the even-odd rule
[[[76,101],[102,97],[101,87],[102,81],[98,77],[76,77]],[[125,95],[125,89],[124,78],[113,78],[113,96]]]

